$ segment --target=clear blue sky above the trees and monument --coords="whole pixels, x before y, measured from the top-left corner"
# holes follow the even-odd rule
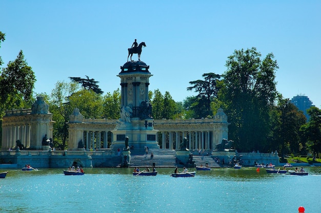
[[[234,50],[256,47],[278,62],[277,90],[321,108],[321,1],[9,1],[0,3],[4,66],[23,50],[35,92],[88,75],[120,88],[120,66],[136,38],[153,76],[149,90],[187,96],[189,81],[223,74]],[[137,54],[133,55],[137,60]]]

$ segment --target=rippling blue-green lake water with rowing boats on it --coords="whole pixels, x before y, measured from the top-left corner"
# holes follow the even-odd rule
[[[83,176],[9,170],[0,212],[321,212],[321,167],[305,169],[308,176],[213,168],[190,178],[171,177],[174,168],[157,168],[157,176],[133,176],[133,168],[85,168]]]

